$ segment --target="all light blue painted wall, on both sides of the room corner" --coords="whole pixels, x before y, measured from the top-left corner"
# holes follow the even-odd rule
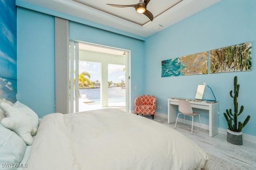
[[[148,37],[146,42],[116,34],[114,29],[104,31],[70,22],[70,39],[132,51],[132,110],[136,96],[152,94],[158,98],[157,104],[162,106],[157,112],[167,114],[168,97],[194,98],[197,85],[204,81],[211,86],[219,102],[219,127],[226,129],[223,112],[229,108],[233,109],[229,92],[233,89],[234,76],[238,76],[241,86],[238,102],[245,107],[240,118],[244,120],[246,115],[251,115],[243,133],[256,136],[256,131],[253,130],[256,129],[255,6],[254,0],[222,0]],[[42,117],[55,111],[54,17],[20,7],[17,16],[18,100]],[[252,71],[161,78],[163,60],[249,41],[252,41]],[[134,90],[134,86],[137,90]],[[212,95],[206,88],[204,99],[209,98],[212,98]],[[202,111],[202,121],[208,123],[207,112]]]

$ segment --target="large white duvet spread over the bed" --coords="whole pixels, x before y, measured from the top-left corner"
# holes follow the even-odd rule
[[[46,115],[25,170],[208,169],[208,155],[176,130],[118,109]]]

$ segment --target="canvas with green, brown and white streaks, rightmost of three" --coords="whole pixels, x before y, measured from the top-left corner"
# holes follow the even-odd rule
[[[210,73],[252,70],[252,42],[210,51]]]

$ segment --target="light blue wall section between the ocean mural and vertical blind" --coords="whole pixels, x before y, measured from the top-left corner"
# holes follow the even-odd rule
[[[54,17],[17,9],[17,100],[39,117],[55,112]]]

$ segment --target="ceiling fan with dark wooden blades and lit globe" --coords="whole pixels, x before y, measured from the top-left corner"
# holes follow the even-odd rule
[[[147,16],[151,21],[153,21],[154,16],[153,14],[147,10],[147,5],[150,2],[150,0],[140,0],[137,4],[131,4],[131,5],[116,5],[116,4],[107,4],[114,7],[134,7],[138,13],[143,13],[145,16]]]

